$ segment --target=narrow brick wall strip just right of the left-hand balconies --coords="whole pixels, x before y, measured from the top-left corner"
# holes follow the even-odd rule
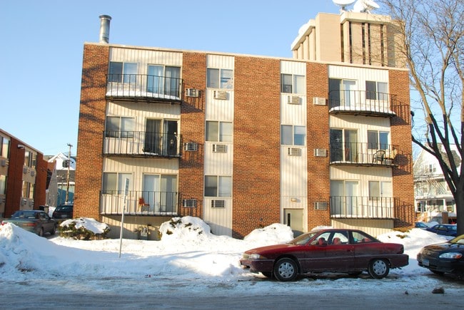
[[[206,54],[184,52],[182,70],[183,88],[196,88],[201,93],[198,98],[184,96],[181,105],[182,143],[198,143],[198,151],[182,151],[178,172],[179,210],[181,215],[203,217]],[[196,199],[197,207],[183,208],[182,199]]]

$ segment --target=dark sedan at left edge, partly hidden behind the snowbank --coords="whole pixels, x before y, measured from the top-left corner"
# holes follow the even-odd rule
[[[11,215],[11,218],[4,219],[1,224],[13,223],[18,227],[24,228],[29,232],[34,232],[39,236],[45,233],[55,234],[56,222],[44,211],[40,210],[19,210]]]

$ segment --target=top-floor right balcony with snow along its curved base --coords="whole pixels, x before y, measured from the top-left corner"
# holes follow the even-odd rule
[[[328,94],[329,113],[393,117],[396,95],[372,91],[333,90]]]

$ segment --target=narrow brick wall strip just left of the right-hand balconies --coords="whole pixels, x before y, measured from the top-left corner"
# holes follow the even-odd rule
[[[308,93],[308,230],[319,225],[328,225],[330,219],[329,197],[331,195],[329,157],[315,157],[314,149],[329,147],[328,106],[313,105],[313,97],[327,98],[328,68],[321,63],[306,66]],[[329,152],[327,152],[329,154]],[[314,202],[327,202],[327,210],[314,210]]]

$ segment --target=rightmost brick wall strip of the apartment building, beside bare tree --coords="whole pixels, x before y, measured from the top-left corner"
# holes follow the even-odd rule
[[[393,197],[395,197],[395,227],[409,227],[415,222],[413,147],[411,143],[410,98],[408,71],[390,70],[390,93],[397,95],[391,120],[391,141],[398,145],[393,168]]]

